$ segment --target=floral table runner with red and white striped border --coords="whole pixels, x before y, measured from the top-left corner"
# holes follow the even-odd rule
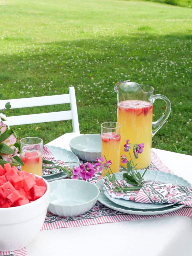
[[[159,171],[164,171],[168,173],[173,173],[164,163],[159,159],[157,154],[152,151],[152,163]],[[67,228],[67,227],[79,227],[94,225],[100,223],[108,222],[119,222],[127,220],[140,220],[140,219],[150,219],[164,216],[188,216],[192,218],[192,209],[189,207],[184,207],[179,210],[169,212],[166,214],[159,215],[136,215],[136,214],[123,214],[108,207],[103,206],[99,202],[90,210],[91,213],[85,213],[82,216],[76,216],[72,218],[60,217],[47,213],[47,217],[41,230],[57,229],[57,228]]]

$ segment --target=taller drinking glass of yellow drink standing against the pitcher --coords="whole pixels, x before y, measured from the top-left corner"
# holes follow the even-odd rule
[[[119,172],[120,129],[121,124],[117,122],[101,124],[101,156],[111,160],[110,168],[113,173]],[[108,172],[108,170],[105,171]],[[102,170],[102,177],[105,177],[105,171]]]

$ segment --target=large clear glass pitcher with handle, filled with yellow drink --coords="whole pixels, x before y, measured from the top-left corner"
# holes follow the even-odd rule
[[[135,164],[137,169],[145,168],[151,163],[152,137],[168,119],[171,103],[164,95],[153,95],[153,87],[130,80],[116,83],[114,90],[117,92],[117,122],[121,124],[120,165],[126,167],[121,163],[122,155],[130,159],[129,153],[124,152],[124,144],[129,139],[132,144],[144,143],[143,152],[135,159]],[[166,109],[161,118],[153,122],[153,103],[156,99],[164,100]],[[130,153],[134,159],[133,150]]]

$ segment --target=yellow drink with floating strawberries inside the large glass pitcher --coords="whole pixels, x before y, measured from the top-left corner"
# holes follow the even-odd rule
[[[118,104],[118,122],[121,124],[121,143],[120,143],[120,165],[121,156],[126,155],[130,160],[128,152],[124,152],[124,144],[129,139],[129,143],[144,143],[142,154],[135,159],[137,169],[142,169],[151,163],[151,144],[152,144],[152,119],[153,104],[141,100],[126,100]],[[134,159],[133,150],[130,151]]]

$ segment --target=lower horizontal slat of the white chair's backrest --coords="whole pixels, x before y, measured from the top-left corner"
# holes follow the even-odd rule
[[[46,123],[53,121],[63,121],[72,119],[72,111],[58,111],[31,115],[17,115],[7,117],[7,125],[22,125],[34,123]]]

